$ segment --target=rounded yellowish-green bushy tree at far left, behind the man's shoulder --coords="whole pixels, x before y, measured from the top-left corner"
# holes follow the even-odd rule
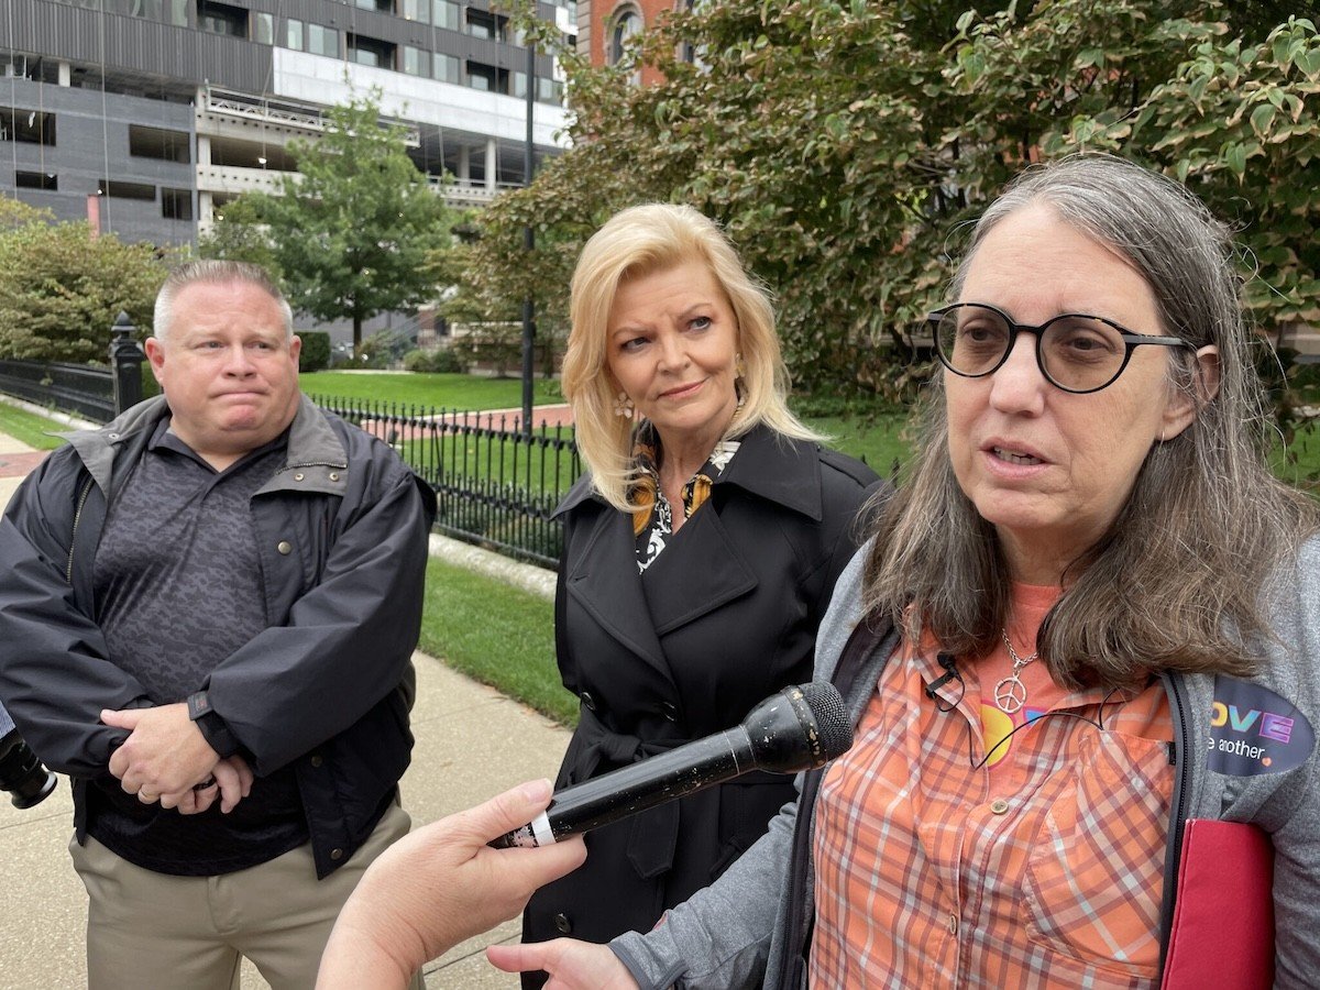
[[[147,329],[169,257],[0,197],[0,355],[106,363],[120,310]]]

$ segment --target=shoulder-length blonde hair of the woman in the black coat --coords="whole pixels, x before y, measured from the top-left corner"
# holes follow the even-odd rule
[[[577,445],[601,496],[628,508],[634,480],[632,420],[615,412],[618,385],[606,367],[610,309],[619,285],[688,261],[701,261],[723,290],[738,323],[743,404],[733,436],[764,422],[799,440],[820,440],[788,411],[788,370],[767,292],[747,273],[718,226],[689,206],[647,203],[615,214],[598,230],[573,272],[564,395],[573,405]]]

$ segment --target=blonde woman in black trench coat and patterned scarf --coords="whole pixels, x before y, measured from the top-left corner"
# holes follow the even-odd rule
[[[581,700],[560,787],[809,680],[878,483],[788,411],[766,293],[700,213],[614,216],[578,261],[572,318],[564,391],[589,471],[557,510],[558,664]],[[752,774],[589,834],[586,866],[532,899],[524,939],[645,931],[791,795],[787,777]]]

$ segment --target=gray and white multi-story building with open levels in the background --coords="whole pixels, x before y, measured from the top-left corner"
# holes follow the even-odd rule
[[[560,82],[488,0],[4,0],[0,193],[124,240],[193,243],[294,168],[354,92],[381,94],[417,166],[458,205],[558,149]],[[573,0],[539,16],[577,32]]]

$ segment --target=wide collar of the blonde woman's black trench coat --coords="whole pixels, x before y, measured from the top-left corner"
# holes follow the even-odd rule
[[[810,441],[792,440],[758,422],[741,437],[742,446],[713,487],[735,484],[744,491],[801,512],[813,523],[825,516],[821,495],[820,446]],[[583,474],[569,488],[552,519],[572,511],[586,499],[603,503],[591,475]]]

